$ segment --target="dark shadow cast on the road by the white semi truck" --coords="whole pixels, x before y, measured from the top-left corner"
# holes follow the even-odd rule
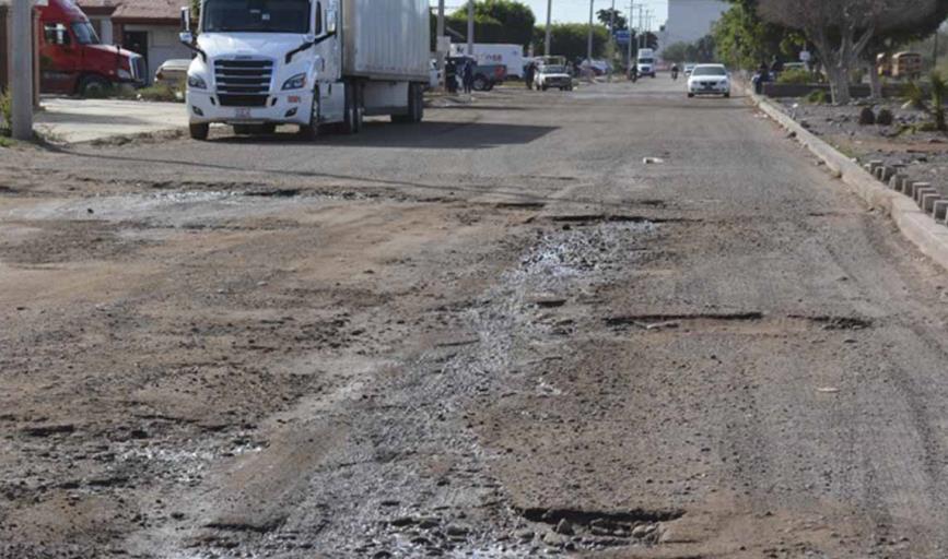
[[[224,135],[213,138],[210,142],[242,145],[305,144],[414,150],[487,150],[501,145],[528,144],[557,129],[557,127],[481,122],[394,124],[384,121],[367,121],[364,130],[359,134],[327,133],[320,135],[315,142],[304,141],[292,132],[253,136]]]

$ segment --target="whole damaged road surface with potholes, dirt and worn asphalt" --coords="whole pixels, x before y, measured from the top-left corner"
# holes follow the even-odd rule
[[[889,222],[668,80],[428,117],[0,151],[0,556],[945,556]]]

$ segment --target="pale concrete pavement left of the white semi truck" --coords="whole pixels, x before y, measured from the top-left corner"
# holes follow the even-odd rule
[[[188,126],[182,103],[44,97],[36,131],[51,142],[75,143],[179,130]]]

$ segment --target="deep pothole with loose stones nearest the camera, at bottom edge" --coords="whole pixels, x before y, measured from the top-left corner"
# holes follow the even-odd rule
[[[567,545],[581,548],[657,544],[663,533],[662,523],[684,515],[680,509],[586,511],[531,508],[519,513],[530,522],[553,526],[555,534],[569,538]]]

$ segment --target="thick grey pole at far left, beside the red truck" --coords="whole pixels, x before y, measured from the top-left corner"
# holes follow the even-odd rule
[[[13,0],[10,20],[11,128],[16,140],[33,139],[33,0]],[[4,45],[5,47],[5,45]]]

